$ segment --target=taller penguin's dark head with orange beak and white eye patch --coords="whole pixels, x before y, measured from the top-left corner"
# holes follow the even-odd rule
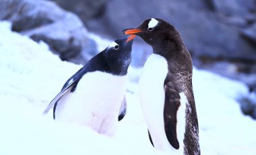
[[[165,40],[179,36],[174,26],[159,18],[146,19],[139,27],[123,30],[123,33],[139,36],[151,46],[164,44]]]

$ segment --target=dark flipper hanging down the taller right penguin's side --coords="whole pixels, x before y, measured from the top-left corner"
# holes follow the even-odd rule
[[[181,105],[181,97],[178,91],[169,85],[164,85],[164,130],[170,145],[179,149],[179,141],[177,138],[177,111]]]

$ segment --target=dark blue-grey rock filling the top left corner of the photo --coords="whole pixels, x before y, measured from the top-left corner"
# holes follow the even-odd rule
[[[1,7],[0,19],[11,21],[12,30],[17,32],[53,23],[65,16],[65,11],[50,1],[3,0]]]

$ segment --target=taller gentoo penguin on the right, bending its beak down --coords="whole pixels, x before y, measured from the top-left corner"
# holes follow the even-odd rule
[[[153,146],[174,154],[200,154],[193,66],[181,35],[157,18],[123,33],[139,36],[153,48],[139,79],[141,109]]]

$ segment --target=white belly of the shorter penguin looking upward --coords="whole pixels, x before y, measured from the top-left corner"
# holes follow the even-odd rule
[[[58,121],[81,123],[100,134],[112,136],[125,95],[126,76],[90,72],[82,77],[74,93],[63,96],[56,108]]]

